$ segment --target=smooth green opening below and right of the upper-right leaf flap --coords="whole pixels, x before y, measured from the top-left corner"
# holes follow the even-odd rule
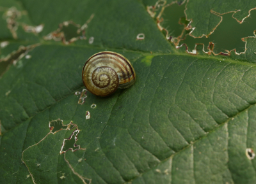
[[[222,22],[209,38],[193,38],[187,35],[184,41],[180,41],[180,44],[186,43],[188,50],[191,51],[195,48],[196,43],[204,43],[205,48],[207,48],[209,42],[212,41],[214,43],[214,53],[225,52],[225,50],[233,50],[234,48],[238,53],[244,52],[245,42],[242,41],[242,38],[254,36],[256,11],[251,11],[251,16],[246,18],[242,24],[232,18],[232,13],[227,13],[222,17]]]

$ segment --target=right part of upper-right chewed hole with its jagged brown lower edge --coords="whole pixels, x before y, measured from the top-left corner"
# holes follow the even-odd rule
[[[196,50],[196,53],[202,50],[208,55],[237,55],[237,57],[241,55],[240,57],[243,57],[248,52],[246,51],[249,46],[247,38],[255,39],[255,27],[253,27],[255,20],[256,11],[253,11],[252,17],[243,24],[237,24],[230,14],[223,15],[223,22],[218,26],[218,31],[211,34],[209,38],[195,39],[187,34],[186,39],[181,40],[177,48],[184,46],[188,53],[193,49]],[[203,49],[200,45],[203,46]],[[204,47],[206,45],[208,46]]]

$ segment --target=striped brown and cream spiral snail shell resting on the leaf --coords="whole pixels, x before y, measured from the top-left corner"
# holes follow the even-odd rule
[[[95,53],[84,64],[84,86],[96,96],[109,96],[117,88],[134,84],[136,74],[128,59],[119,53],[104,51]]]

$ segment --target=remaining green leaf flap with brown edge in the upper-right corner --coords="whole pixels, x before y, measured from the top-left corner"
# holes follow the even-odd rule
[[[209,36],[221,23],[221,15],[233,13],[232,17],[242,23],[250,16],[250,11],[255,9],[255,1],[189,1],[186,7],[186,18],[191,20],[194,37]]]

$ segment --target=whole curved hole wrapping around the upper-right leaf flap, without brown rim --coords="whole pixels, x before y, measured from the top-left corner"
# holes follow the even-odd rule
[[[236,48],[237,53],[244,52],[245,42],[242,41],[242,38],[254,36],[253,31],[256,29],[256,25],[254,24],[256,22],[255,10],[250,12],[250,17],[246,18],[242,24],[239,24],[235,18],[232,18],[232,13],[221,15],[223,17],[222,22],[209,38],[205,38],[205,36],[203,38],[193,38],[189,36],[189,32],[192,29],[184,29],[189,24],[184,14],[185,4],[179,6],[179,4],[175,3],[167,6],[159,17],[161,27],[168,31],[168,36],[172,37],[172,43],[175,46],[186,43],[188,51],[192,53],[195,50],[195,45],[201,43],[204,44],[205,52],[207,52],[207,48],[216,54],[220,52],[227,53],[227,50],[230,51],[234,48]],[[154,12],[156,13],[155,17],[157,17],[160,11]],[[200,29],[200,27],[196,27],[196,29]],[[163,34],[166,36],[165,31],[163,31]],[[209,45],[211,42],[214,43],[214,46]]]

